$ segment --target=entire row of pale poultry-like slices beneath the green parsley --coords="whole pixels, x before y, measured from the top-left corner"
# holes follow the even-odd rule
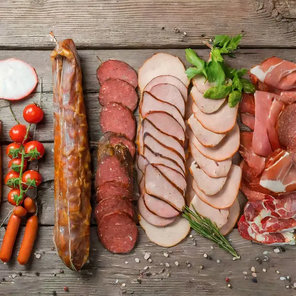
[[[223,235],[237,222],[240,206],[237,194],[241,168],[232,163],[240,145],[236,123],[238,106],[230,108],[227,99],[204,98],[211,83],[202,75],[192,79],[186,112],[190,156],[187,167],[187,202],[203,217],[216,222]]]

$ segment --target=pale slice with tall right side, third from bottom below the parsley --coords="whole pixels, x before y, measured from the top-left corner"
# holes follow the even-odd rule
[[[239,191],[240,182],[241,168],[238,165],[232,164],[224,186],[215,195],[208,196],[204,194],[194,183],[192,187],[202,201],[216,209],[225,209],[234,203]]]

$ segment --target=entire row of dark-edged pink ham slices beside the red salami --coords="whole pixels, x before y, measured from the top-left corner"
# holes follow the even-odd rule
[[[150,241],[164,247],[185,238],[180,215],[185,201],[185,104],[189,81],[179,58],[157,53],[139,70],[136,169],[140,224]]]

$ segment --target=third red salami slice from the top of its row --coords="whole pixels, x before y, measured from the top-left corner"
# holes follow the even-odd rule
[[[133,140],[136,134],[136,121],[133,113],[120,103],[108,103],[101,110],[102,132],[114,132]]]

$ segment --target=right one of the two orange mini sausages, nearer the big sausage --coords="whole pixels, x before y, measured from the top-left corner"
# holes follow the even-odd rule
[[[27,221],[24,238],[17,257],[17,260],[21,265],[25,265],[29,261],[37,235],[37,228],[38,218],[34,215]]]

